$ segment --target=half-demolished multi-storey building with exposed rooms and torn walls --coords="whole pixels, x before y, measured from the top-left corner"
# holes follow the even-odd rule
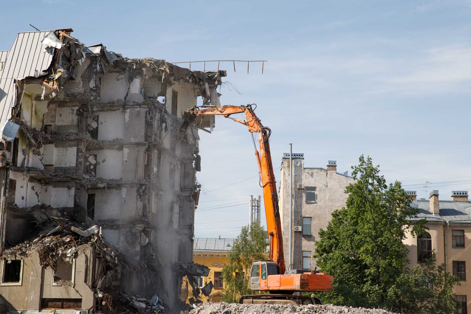
[[[125,58],[71,32],[20,32],[0,51],[0,295],[6,310],[103,312],[98,286],[177,308],[182,274],[173,265],[193,259],[198,129],[214,126],[211,116],[188,125],[183,113],[198,97],[219,105],[226,72]],[[109,243],[126,272],[100,273],[104,257],[89,242],[72,255],[53,246],[51,265],[32,250],[74,224],[78,239]],[[84,231],[92,225],[99,235]]]

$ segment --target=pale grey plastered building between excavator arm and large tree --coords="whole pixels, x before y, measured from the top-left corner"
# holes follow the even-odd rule
[[[292,154],[292,269],[314,269],[319,229],[325,229],[332,212],[347,201],[345,187],[355,180],[347,172],[337,172],[337,162],[328,161],[326,168],[304,167],[304,154]],[[283,230],[284,260],[289,267],[289,186],[290,154],[283,154],[279,207]],[[295,228],[296,227],[296,228]]]

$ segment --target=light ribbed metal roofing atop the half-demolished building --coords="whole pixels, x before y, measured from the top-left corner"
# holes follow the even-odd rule
[[[49,52],[41,44],[49,32],[20,32],[16,35],[3,70],[0,71],[0,126],[10,117],[10,108],[15,99],[13,80],[34,76],[35,71],[42,72],[49,67],[54,50],[49,48]]]

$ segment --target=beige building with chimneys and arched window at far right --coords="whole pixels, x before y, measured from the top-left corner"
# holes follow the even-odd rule
[[[404,240],[409,249],[409,266],[424,262],[437,254],[437,263],[445,263],[447,271],[460,278],[461,286],[455,286],[455,299],[462,308],[455,313],[469,313],[471,309],[471,201],[468,191],[453,191],[452,201],[439,200],[439,191],[430,192],[430,198],[417,200],[416,191],[406,191],[414,198],[410,204],[419,209],[418,220],[427,219],[430,230],[414,238]]]

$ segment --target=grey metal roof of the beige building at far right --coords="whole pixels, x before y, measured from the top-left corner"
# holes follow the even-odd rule
[[[471,222],[471,203],[469,202],[439,201],[439,217],[434,216],[430,211],[429,200],[416,200],[411,203],[411,206],[419,209],[418,218],[413,218],[413,220],[426,218],[430,221],[444,219],[449,222]]]

